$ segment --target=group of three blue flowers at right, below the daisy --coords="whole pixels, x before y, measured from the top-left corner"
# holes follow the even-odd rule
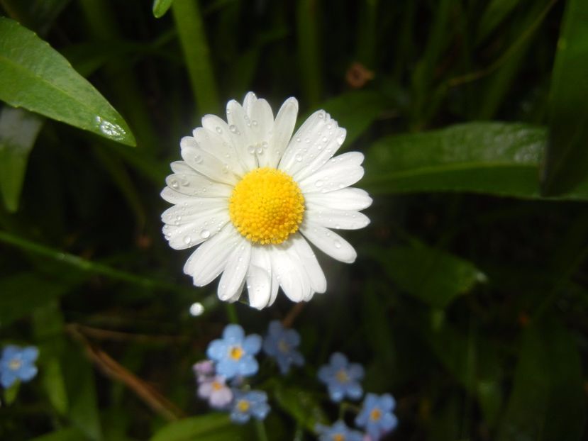
[[[343,398],[360,399],[363,395],[360,381],[364,374],[360,364],[350,363],[340,352],[331,355],[329,364],[318,369],[318,379],[326,384],[331,401],[335,403],[339,403]],[[351,430],[342,420],[338,420],[331,427],[317,426],[319,440],[377,441],[398,425],[396,415],[392,413],[395,406],[396,402],[389,393],[379,396],[375,393],[367,393],[361,411],[355,418],[355,425],[363,428],[366,435],[357,430]]]

